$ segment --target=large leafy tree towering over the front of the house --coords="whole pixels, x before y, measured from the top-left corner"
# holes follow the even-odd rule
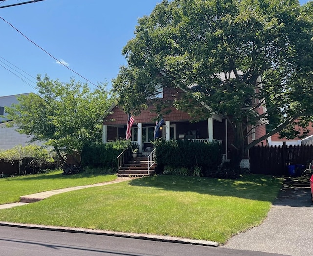
[[[123,49],[128,65],[113,80],[120,106],[139,113],[156,104],[162,115],[173,105],[194,119],[224,116],[235,135],[232,163],[238,167],[249,148],[313,116],[312,6],[297,0],[164,0],[138,20]],[[161,87],[179,88],[182,96],[151,101]],[[267,111],[258,114],[265,104]],[[269,117],[274,125],[267,135],[245,145],[248,127]]]

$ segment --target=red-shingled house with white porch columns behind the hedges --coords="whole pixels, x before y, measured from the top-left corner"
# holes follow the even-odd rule
[[[179,93],[173,89],[163,89],[162,98],[168,100],[173,98],[173,94]],[[204,106],[200,106],[204,107]],[[131,128],[131,140],[138,143],[139,152],[145,152],[151,148],[151,141],[154,140],[154,130],[156,122],[156,113],[153,106],[142,110],[139,116],[134,116],[134,123]],[[264,107],[256,110],[259,113],[265,111]],[[114,141],[119,138],[125,138],[128,122],[128,113],[125,113],[119,106],[112,104],[107,110],[107,115],[103,120],[103,143]],[[163,115],[164,124],[160,127],[157,137],[164,140],[198,140],[213,141],[218,140],[222,143],[223,160],[230,160],[232,150],[232,130],[229,129],[227,121],[223,116],[213,114],[204,121],[191,122],[191,117],[183,111],[171,108],[170,114]],[[256,127],[250,127],[252,133],[247,137],[246,143],[258,139],[265,135],[265,125],[261,124]],[[247,131],[248,133],[248,131]],[[265,141],[263,141],[265,143]],[[261,144],[261,142],[260,142]],[[249,168],[248,155],[241,163],[242,167]]]

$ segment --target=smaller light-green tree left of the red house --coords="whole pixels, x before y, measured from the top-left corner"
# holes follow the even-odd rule
[[[18,97],[6,108],[20,133],[33,135],[52,146],[64,162],[62,152],[81,154],[84,145],[102,140],[102,118],[112,103],[105,85],[91,90],[87,84],[62,83],[37,77],[38,94]],[[80,164],[80,163],[77,163]]]

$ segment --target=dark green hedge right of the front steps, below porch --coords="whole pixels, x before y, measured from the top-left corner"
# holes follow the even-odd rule
[[[154,145],[156,161],[161,167],[187,168],[190,173],[201,167],[203,176],[212,177],[222,163],[222,147],[218,142],[157,140]]]

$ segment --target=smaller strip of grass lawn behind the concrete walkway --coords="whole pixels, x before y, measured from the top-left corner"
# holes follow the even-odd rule
[[[61,170],[0,179],[0,204],[18,202],[20,196],[48,190],[112,181],[116,175],[92,175],[86,172],[62,175]]]

